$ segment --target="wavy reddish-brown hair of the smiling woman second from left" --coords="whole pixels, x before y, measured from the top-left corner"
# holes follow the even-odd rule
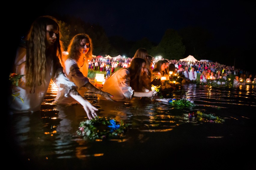
[[[68,46],[68,53],[69,53],[67,55],[68,58],[72,58],[78,61],[78,59],[81,56],[80,48],[81,48],[81,41],[83,39],[86,39],[86,42],[89,43],[90,45],[89,51],[87,52],[87,54],[85,54],[84,58],[86,60],[91,60],[91,58],[93,57],[93,43],[92,43],[92,39],[87,34],[77,34],[71,39]]]

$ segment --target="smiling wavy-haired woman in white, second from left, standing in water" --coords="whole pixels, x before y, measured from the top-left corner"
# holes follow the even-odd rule
[[[88,75],[88,62],[92,58],[93,45],[92,40],[87,34],[77,34],[70,41],[68,47],[68,55],[63,58],[64,70],[66,76],[70,81],[74,82],[78,86],[78,92],[81,96],[84,96],[84,92],[88,89],[102,95],[107,100],[111,99],[112,95],[108,92],[96,88],[90,83],[86,77]],[[72,105],[78,102],[71,97],[63,96],[60,90],[57,91],[57,96],[54,101],[56,104]]]

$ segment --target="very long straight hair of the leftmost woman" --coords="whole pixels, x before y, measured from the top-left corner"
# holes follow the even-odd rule
[[[53,25],[60,29],[58,21],[52,16],[41,16],[31,25],[26,36],[26,79],[27,86],[41,86],[46,84],[46,64],[47,60],[53,60],[53,74],[62,67],[60,60],[62,57],[62,42],[60,32],[52,46],[47,45],[46,27]]]

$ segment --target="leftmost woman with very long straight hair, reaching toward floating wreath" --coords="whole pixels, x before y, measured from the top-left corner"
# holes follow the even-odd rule
[[[59,24],[54,17],[41,16],[32,23],[26,43],[17,49],[13,71],[24,76],[18,86],[12,86],[11,114],[39,111],[52,79],[63,96],[84,107],[89,119],[97,116],[98,109],[79,95],[77,86],[63,73],[59,37]]]

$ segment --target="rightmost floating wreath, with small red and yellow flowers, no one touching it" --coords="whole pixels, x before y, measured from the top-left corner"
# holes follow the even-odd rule
[[[224,119],[213,114],[205,114],[200,111],[197,113],[188,113],[189,121],[197,120],[197,122],[211,122],[211,123],[223,123]]]

